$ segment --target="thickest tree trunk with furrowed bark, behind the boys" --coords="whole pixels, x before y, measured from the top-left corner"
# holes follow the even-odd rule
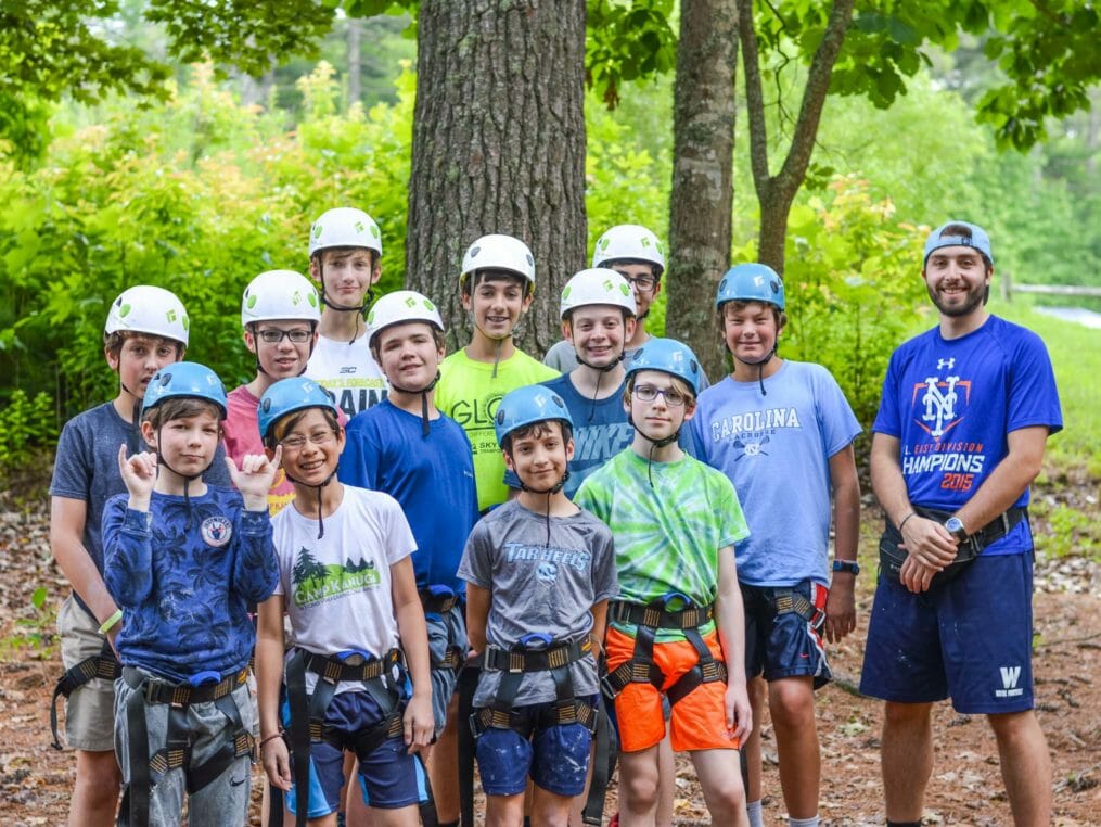
[[[449,348],[470,322],[462,254],[504,232],[535,255],[517,346],[560,337],[558,297],[584,266],[585,0],[424,0],[410,176],[406,284],[435,301]]]

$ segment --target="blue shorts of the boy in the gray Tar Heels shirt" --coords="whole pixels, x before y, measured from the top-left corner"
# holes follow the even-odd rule
[[[597,698],[585,698],[591,704]],[[536,704],[517,707],[537,710]],[[532,733],[531,740],[511,729],[487,729],[478,737],[478,772],[486,795],[523,793],[531,775],[536,786],[555,795],[580,795],[589,772],[592,733],[582,723],[562,723]]]

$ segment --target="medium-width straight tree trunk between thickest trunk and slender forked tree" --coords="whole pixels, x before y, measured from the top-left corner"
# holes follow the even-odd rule
[[[724,372],[712,308],[730,263],[737,67],[734,0],[684,0],[673,95],[666,334],[689,345],[712,379]]]

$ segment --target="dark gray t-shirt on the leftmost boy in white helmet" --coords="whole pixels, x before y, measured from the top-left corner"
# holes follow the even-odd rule
[[[54,460],[54,476],[50,482],[51,497],[84,500],[87,503],[81,540],[100,574],[103,573],[100,525],[103,505],[116,494],[127,492],[122,477],[119,476],[119,446],[122,443],[130,446],[128,454],[133,454],[135,449],[150,449],[134,426],[119,416],[112,403],[89,407],[66,422],[62,428]],[[210,485],[232,488],[225,457],[226,450],[219,444],[214,464],[203,478]],[[87,610],[88,607],[79,595],[76,595],[76,599]]]

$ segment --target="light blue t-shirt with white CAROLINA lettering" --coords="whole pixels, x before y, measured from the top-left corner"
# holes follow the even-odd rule
[[[820,364],[785,361],[761,385],[727,377],[699,396],[689,450],[734,483],[750,537],[738,579],[751,586],[829,584],[829,458],[860,433]]]

